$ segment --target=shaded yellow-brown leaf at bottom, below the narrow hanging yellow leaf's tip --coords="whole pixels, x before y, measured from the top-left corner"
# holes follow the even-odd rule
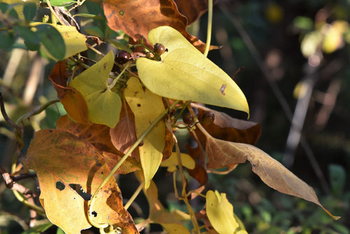
[[[139,180],[142,180],[142,174],[139,173]],[[151,181],[148,189],[144,189],[144,193],[150,206],[149,218],[153,223],[159,223],[162,225],[169,234],[190,234],[179,219],[176,219],[176,215],[167,212],[163,207],[160,200],[158,200],[158,188],[153,181]]]

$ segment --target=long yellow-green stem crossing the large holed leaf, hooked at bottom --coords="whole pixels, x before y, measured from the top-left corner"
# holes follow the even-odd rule
[[[117,163],[116,166],[113,167],[113,169],[111,170],[111,172],[109,172],[109,174],[107,175],[107,177],[104,179],[104,181],[102,181],[102,183],[99,185],[99,187],[97,188],[97,190],[94,192],[94,195],[92,195],[91,200],[89,200],[88,202],[88,214],[87,214],[87,219],[89,220],[89,222],[92,224],[92,226],[95,226],[97,228],[106,228],[109,226],[108,223],[96,223],[92,220],[92,207],[94,205],[94,201],[96,200],[96,196],[99,193],[99,191],[102,190],[102,188],[107,184],[107,182],[109,181],[109,179],[111,179],[111,177],[113,177],[113,174],[116,173],[116,171],[118,170],[118,168],[120,167],[120,165],[122,165],[122,163],[124,163],[124,161],[127,159],[127,157],[129,157],[132,153],[132,151],[134,151],[134,149],[137,148],[137,146],[139,146],[139,144],[142,142],[142,140],[146,137],[146,135],[148,134],[148,132],[151,132],[151,130],[155,127],[155,125],[157,125],[157,123],[159,121],[162,120],[162,118],[164,118],[164,116],[174,108],[174,106],[176,106],[176,104],[178,104],[179,102],[181,102],[181,100],[177,100],[175,101],[168,109],[165,109],[165,111],[163,111],[163,113],[160,114],[160,116],[158,116],[157,119],[155,119],[155,121],[146,129],[146,131],[139,137],[139,139],[137,139],[137,141],[132,145],[132,147],[129,149],[129,151],[127,151],[127,153],[125,153],[125,155],[123,156],[123,158],[120,159],[120,161]]]

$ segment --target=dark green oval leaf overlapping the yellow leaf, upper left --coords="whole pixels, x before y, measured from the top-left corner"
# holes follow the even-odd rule
[[[45,50],[47,50],[55,60],[63,60],[66,52],[66,45],[57,29],[48,24],[36,25],[36,29]]]

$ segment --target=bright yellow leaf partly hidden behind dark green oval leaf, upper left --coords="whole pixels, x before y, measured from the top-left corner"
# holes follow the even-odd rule
[[[81,51],[87,50],[85,41],[86,37],[84,34],[80,34],[76,27],[66,26],[66,25],[54,25],[54,24],[44,24],[41,22],[33,22],[30,26],[35,27],[37,25],[51,25],[55,27],[57,31],[61,34],[64,44],[66,45],[66,52],[64,54],[64,59],[71,57]],[[46,55],[48,55],[52,60],[55,60],[55,57],[48,53],[48,50],[44,48]]]

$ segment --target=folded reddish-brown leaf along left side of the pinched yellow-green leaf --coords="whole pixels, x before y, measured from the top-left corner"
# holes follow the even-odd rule
[[[87,104],[83,95],[74,88],[67,88],[66,81],[68,74],[66,71],[66,62],[59,61],[51,70],[50,81],[57,92],[57,97],[62,102],[64,109],[75,121],[79,123],[90,124],[88,119]]]

